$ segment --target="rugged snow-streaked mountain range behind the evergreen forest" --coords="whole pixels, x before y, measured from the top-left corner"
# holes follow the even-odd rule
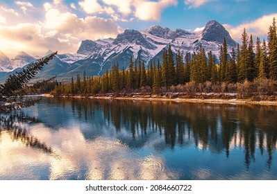
[[[87,76],[101,75],[117,62],[120,69],[128,68],[131,56],[134,60],[140,58],[146,65],[151,60],[160,59],[162,62],[162,53],[169,45],[174,53],[180,50],[183,55],[197,52],[202,46],[207,53],[212,51],[219,58],[224,37],[230,52],[237,43],[224,26],[215,20],[208,21],[205,28],[199,32],[180,28],[173,31],[157,25],[142,31],[126,29],[115,39],[83,40],[76,53],[56,55],[36,78],[57,76],[59,80],[69,80],[83,71],[86,71]],[[9,59],[0,51],[0,82],[34,60],[36,59],[23,51],[14,59]]]

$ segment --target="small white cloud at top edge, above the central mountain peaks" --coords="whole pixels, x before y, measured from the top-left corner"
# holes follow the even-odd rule
[[[144,21],[160,21],[162,10],[177,4],[177,0],[135,1],[135,17]]]

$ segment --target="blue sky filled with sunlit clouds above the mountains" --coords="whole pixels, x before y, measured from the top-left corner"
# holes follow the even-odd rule
[[[84,39],[117,37],[150,26],[201,30],[215,19],[240,42],[243,28],[267,38],[276,0],[0,0],[0,51],[76,53]]]

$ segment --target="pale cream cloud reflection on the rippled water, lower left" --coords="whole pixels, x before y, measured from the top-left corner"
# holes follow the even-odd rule
[[[14,141],[8,132],[1,132],[0,179],[43,179],[46,176],[48,179],[179,177],[178,173],[165,166],[161,157],[140,157],[117,139],[98,137],[86,141],[78,127],[53,132],[49,127],[37,124],[30,126],[30,132],[46,145],[51,145],[55,155],[26,147],[22,141]]]

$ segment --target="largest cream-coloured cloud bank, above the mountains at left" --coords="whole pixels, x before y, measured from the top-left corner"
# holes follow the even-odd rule
[[[43,55],[49,49],[59,53],[76,53],[83,39],[116,37],[122,31],[112,19],[96,16],[79,18],[69,12],[70,8],[62,1],[44,3],[43,8],[44,19],[33,23],[20,23],[17,20],[19,22],[11,24],[6,21],[6,15],[1,15],[0,50],[10,57],[18,51]],[[39,9],[37,8],[37,11]]]

